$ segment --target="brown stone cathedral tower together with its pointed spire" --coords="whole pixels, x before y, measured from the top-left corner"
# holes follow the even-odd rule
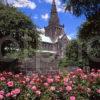
[[[49,25],[45,28],[45,35],[52,40],[63,34],[64,26],[60,25],[55,0],[53,0]]]

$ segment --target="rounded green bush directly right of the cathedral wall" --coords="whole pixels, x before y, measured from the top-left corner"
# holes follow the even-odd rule
[[[83,43],[79,40],[71,40],[66,48],[66,57],[59,63],[61,67],[78,66],[83,67],[88,65],[88,60],[85,55]]]

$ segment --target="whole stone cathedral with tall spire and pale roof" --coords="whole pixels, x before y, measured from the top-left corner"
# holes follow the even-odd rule
[[[40,34],[40,43],[32,65],[26,68],[26,73],[48,73],[58,71],[59,60],[64,58],[66,46],[69,42],[64,25],[60,25],[55,0],[52,1],[50,19],[45,32]],[[30,60],[31,61],[31,60]]]

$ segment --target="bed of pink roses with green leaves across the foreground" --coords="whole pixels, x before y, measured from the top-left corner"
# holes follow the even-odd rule
[[[100,100],[100,70],[24,76],[0,73],[0,100]]]

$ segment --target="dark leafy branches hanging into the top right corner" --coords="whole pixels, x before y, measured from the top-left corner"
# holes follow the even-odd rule
[[[66,3],[66,10],[74,15],[85,15],[87,18],[100,11],[100,0],[63,0]]]

